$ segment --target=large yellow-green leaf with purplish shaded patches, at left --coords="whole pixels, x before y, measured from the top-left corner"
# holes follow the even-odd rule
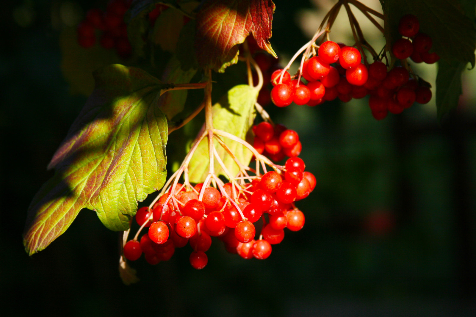
[[[60,236],[81,208],[111,230],[129,228],[137,201],[165,182],[167,119],[156,106],[164,85],[145,71],[110,65],[48,168],[55,175],[28,209],[24,245],[31,255]]]

